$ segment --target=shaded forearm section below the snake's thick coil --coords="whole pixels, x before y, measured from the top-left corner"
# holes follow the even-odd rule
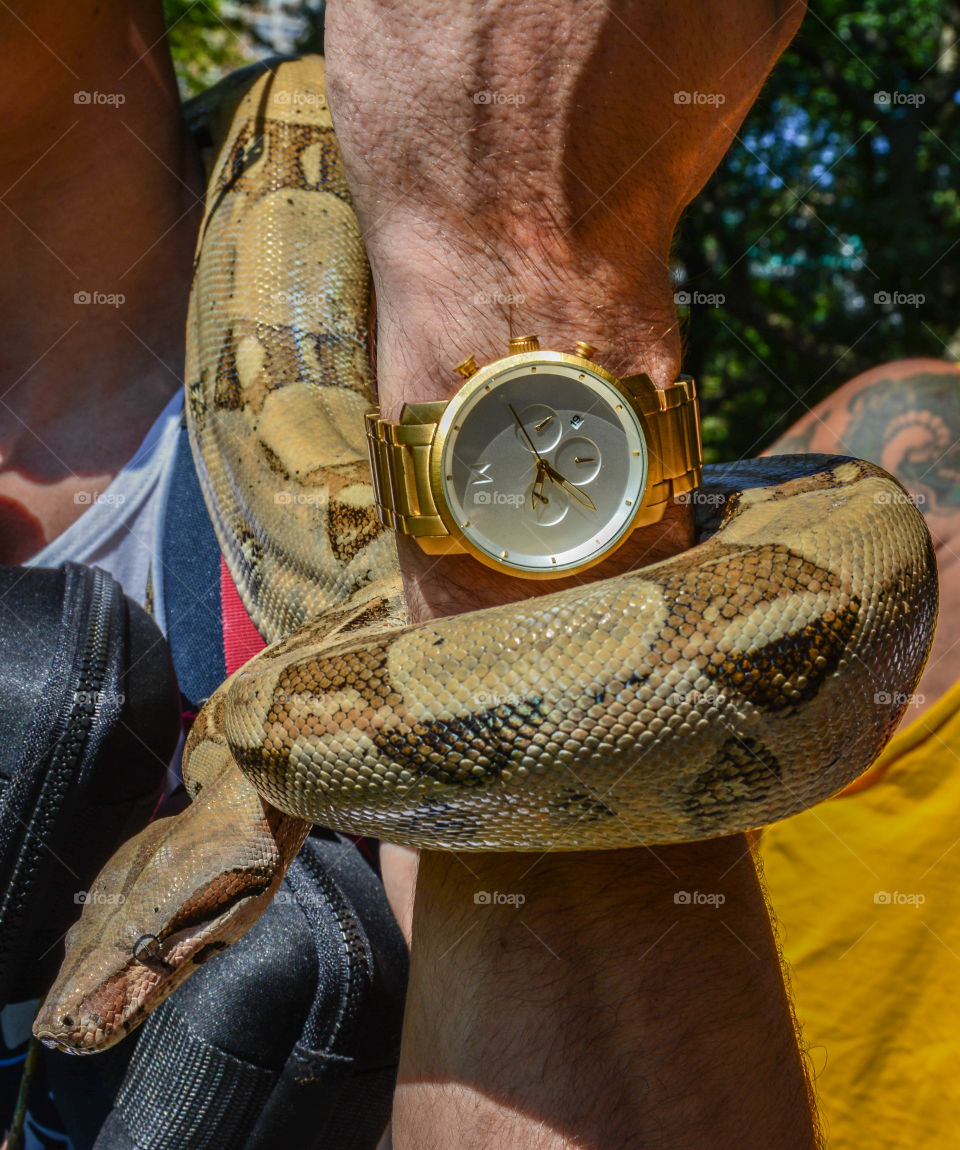
[[[809,1116],[743,837],[422,857],[395,1150],[808,1150]]]

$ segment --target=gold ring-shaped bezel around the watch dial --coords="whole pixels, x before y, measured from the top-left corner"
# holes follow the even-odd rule
[[[470,404],[477,392],[483,391],[489,388],[490,382],[496,376],[501,375],[504,371],[512,370],[519,367],[568,367],[577,371],[584,369],[589,370],[592,375],[598,376],[617,392],[624,400],[625,405],[630,408],[637,423],[640,427],[640,434],[643,436],[644,455],[646,461],[646,475],[644,481],[644,490],[640,498],[637,501],[637,509],[633,516],[629,520],[624,527],[620,537],[606,547],[601,553],[593,554],[590,559],[582,564],[575,566],[556,568],[544,568],[543,570],[531,570],[528,567],[517,567],[510,565],[506,560],[496,559],[490,555],[486,551],[478,547],[469,536],[464,535],[456,518],[453,515],[450,504],[447,503],[446,490],[444,485],[444,469],[443,469],[443,458],[446,447],[447,439],[450,437],[451,430],[454,428],[458,416],[462,409]],[[646,382],[646,381],[643,381]],[[656,389],[653,384],[650,384],[650,392],[653,401],[655,402]],[[571,575],[581,574],[582,572],[589,570],[591,567],[596,567],[601,564],[605,559],[617,551],[632,535],[637,520],[644,514],[644,508],[647,501],[647,494],[651,488],[651,469],[653,460],[651,458],[650,444],[651,444],[651,431],[647,422],[646,413],[642,409],[640,397],[636,390],[628,388],[622,379],[617,378],[613,373],[608,371],[606,368],[601,367],[599,363],[594,363],[592,360],[584,359],[582,355],[574,355],[568,352],[554,352],[554,351],[533,351],[533,352],[520,352],[516,355],[507,355],[502,359],[494,360],[492,363],[487,363],[479,368],[469,379],[460,388],[455,396],[447,402],[443,416],[437,423],[436,435],[433,437],[432,450],[430,452],[430,491],[433,497],[433,503],[436,505],[437,512],[443,520],[450,535],[456,539],[459,545],[474,557],[478,562],[482,562],[485,567],[490,567],[493,570],[499,570],[504,574],[512,575],[517,578],[527,580],[559,580],[566,578]]]

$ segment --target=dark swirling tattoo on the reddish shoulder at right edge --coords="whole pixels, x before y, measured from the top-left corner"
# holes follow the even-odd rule
[[[960,508],[960,373],[881,378],[850,400],[848,413],[842,450],[912,491],[931,491],[935,507]]]

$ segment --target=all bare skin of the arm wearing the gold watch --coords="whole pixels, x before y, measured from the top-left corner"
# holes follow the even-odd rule
[[[674,229],[801,15],[719,0],[682,14],[627,0],[332,5],[328,85],[374,270],[384,413],[450,397],[453,363],[487,362],[527,332],[559,350],[585,339],[612,370],[667,386],[681,366]],[[691,538],[673,508],[587,577]],[[413,545],[401,564],[418,618],[563,585]],[[390,869],[395,854],[384,858]],[[407,907],[402,880],[387,882]],[[677,904],[682,890],[722,895],[722,911]],[[524,903],[478,905],[478,891]],[[743,836],[423,852],[393,1142],[815,1145]]]

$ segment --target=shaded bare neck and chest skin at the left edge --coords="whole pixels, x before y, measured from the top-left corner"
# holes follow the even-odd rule
[[[159,3],[18,7],[0,14],[0,498],[37,526],[8,561],[181,385],[203,189]]]

